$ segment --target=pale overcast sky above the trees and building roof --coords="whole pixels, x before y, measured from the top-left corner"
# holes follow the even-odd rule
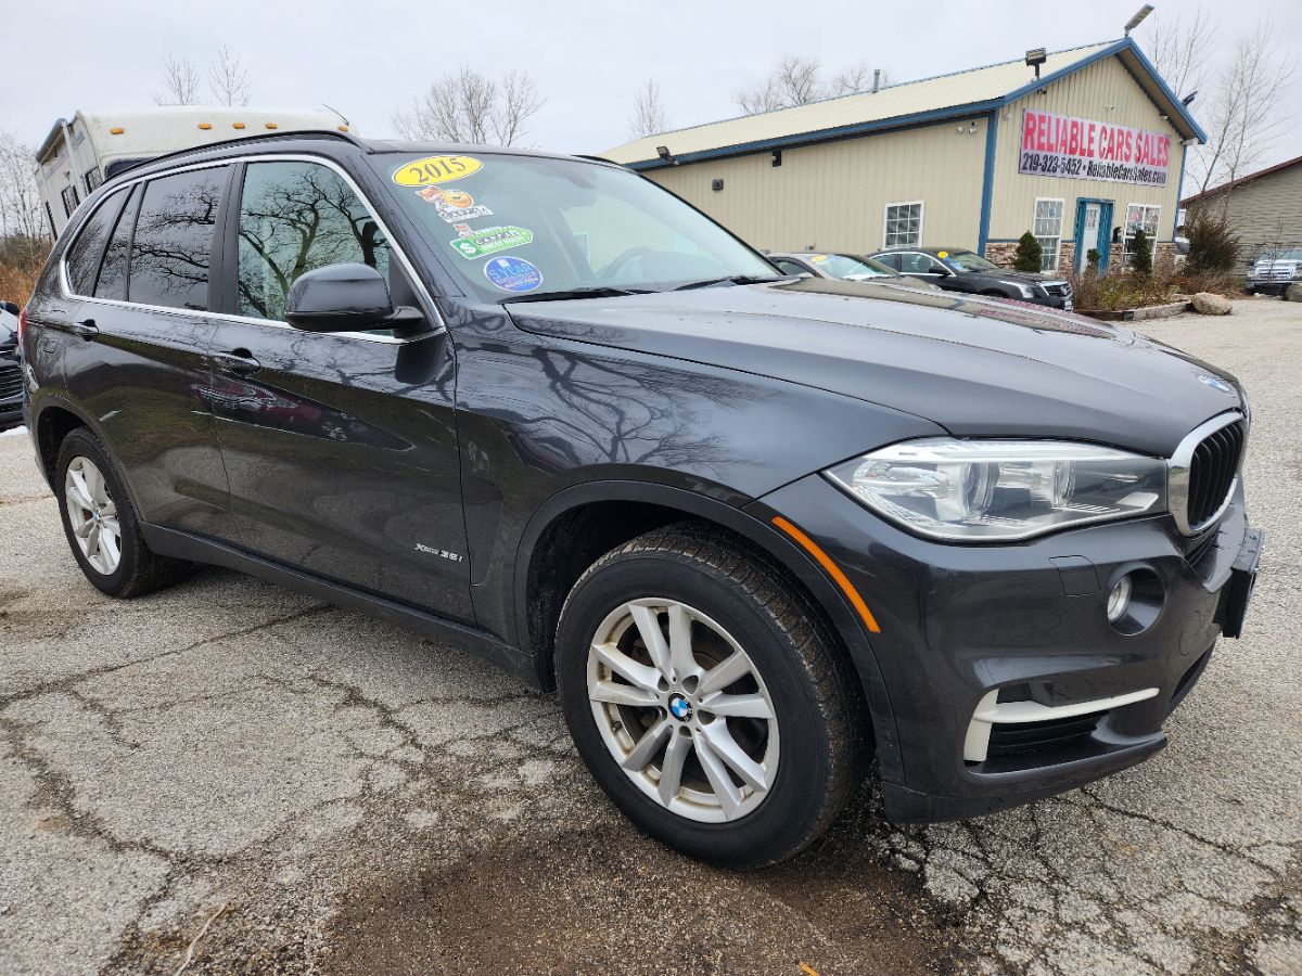
[[[859,61],[893,81],[1121,36],[1139,0],[1085,4],[749,4],[396,3],[392,0],[4,0],[0,129],[39,143],[77,108],[152,104],[163,59],[204,68],[221,44],[243,62],[253,104],[344,111],[363,135],[391,135],[395,108],[443,72],[470,64],[486,74],[527,69],[547,98],[526,144],[599,152],[629,138],[634,92],[654,77],[674,128],[737,115],[732,94],[784,55],[828,69]],[[1173,18],[1194,5],[1157,3]],[[1302,51],[1297,0],[1208,4],[1219,39],[1267,22],[1285,49]],[[1152,18],[1150,18],[1150,23]],[[1143,44],[1148,25],[1135,36]],[[1217,59],[1224,51],[1211,51]],[[1204,92],[1206,94],[1206,92]],[[1293,105],[1302,107],[1302,81]],[[1195,102],[1194,112],[1198,112]],[[1302,117],[1268,163],[1302,155]]]

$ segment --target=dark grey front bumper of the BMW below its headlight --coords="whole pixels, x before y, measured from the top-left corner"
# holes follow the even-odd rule
[[[874,660],[855,664],[884,683],[893,742],[880,761],[883,799],[889,819],[906,821],[990,813],[1161,750],[1163,720],[1206,668],[1233,612],[1232,569],[1249,537],[1242,488],[1198,552],[1187,552],[1168,515],[1021,544],[940,544],[883,522],[818,475],[751,508],[812,536],[880,625],[868,635]],[[1108,623],[1105,605],[1113,583],[1134,570],[1154,574],[1163,603],[1147,630],[1128,636]],[[1026,750],[1014,729],[1004,737],[1012,747],[965,760],[974,716],[995,690],[1000,699],[1068,707],[1151,688],[1069,737],[1049,727]],[[874,726],[880,753],[878,714]]]

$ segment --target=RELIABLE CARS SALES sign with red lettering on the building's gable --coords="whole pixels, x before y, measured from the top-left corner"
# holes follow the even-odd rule
[[[1018,173],[1165,186],[1170,137],[1026,109]]]

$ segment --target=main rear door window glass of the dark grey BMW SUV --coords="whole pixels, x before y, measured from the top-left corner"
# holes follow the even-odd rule
[[[214,167],[148,182],[132,241],[132,302],[207,311],[225,180],[227,168]]]

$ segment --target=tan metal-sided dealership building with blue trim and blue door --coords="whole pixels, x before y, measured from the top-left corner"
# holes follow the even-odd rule
[[[970,247],[1044,268],[1174,237],[1203,133],[1130,38],[635,139],[603,154],[772,251]],[[1113,241],[1116,242],[1113,245]],[[1159,250],[1165,250],[1159,247]]]

